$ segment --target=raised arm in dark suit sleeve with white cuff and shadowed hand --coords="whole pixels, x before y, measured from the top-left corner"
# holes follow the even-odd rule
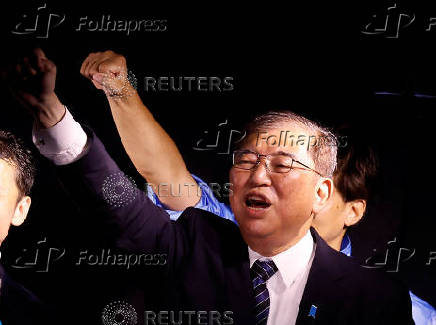
[[[168,214],[154,205],[122,173],[93,134],[82,129],[55,93],[56,66],[41,49],[24,58],[10,77],[11,90],[34,116],[33,140],[58,165],[66,190],[86,208],[103,216],[119,247],[130,251],[167,252],[175,241]],[[125,192],[119,195],[117,186]]]

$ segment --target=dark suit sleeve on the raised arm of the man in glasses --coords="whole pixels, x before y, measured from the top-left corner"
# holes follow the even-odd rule
[[[130,182],[93,132],[87,133],[87,154],[58,167],[66,191],[79,206],[92,208],[95,217],[102,218],[102,229],[109,232],[117,247],[131,252],[167,253],[171,244],[181,255],[182,227]]]

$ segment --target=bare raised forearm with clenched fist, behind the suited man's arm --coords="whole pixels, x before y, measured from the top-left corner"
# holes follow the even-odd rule
[[[174,141],[128,82],[126,59],[112,51],[91,53],[80,72],[105,92],[121,142],[138,172],[148,183],[165,183],[172,189],[174,195],[155,191],[159,200],[171,210],[197,204],[198,184]]]

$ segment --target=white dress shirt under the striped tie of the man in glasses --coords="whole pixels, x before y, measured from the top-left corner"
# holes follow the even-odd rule
[[[260,259],[272,260],[278,271],[266,282],[270,297],[268,325],[295,324],[301,298],[315,256],[310,231],[294,246],[272,257],[264,257],[248,248],[250,267]]]

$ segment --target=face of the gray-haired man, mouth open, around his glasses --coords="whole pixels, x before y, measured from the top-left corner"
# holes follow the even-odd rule
[[[278,139],[283,130],[308,136],[305,129],[285,124],[263,133],[262,137]],[[258,134],[252,134],[241,149],[264,155],[284,152],[314,168],[306,146],[273,145],[271,141],[259,141]],[[262,157],[254,170],[235,167],[230,170],[230,183],[233,184],[230,204],[247,243],[268,238],[283,245],[307,232],[321,177],[298,163],[294,162],[294,167],[288,173],[273,173],[266,169],[265,157]]]

